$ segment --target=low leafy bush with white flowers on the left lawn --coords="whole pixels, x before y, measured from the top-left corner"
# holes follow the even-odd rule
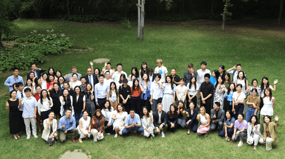
[[[53,31],[47,30],[48,33]],[[19,49],[2,49],[0,51],[0,74],[2,74],[3,70],[11,70],[14,67],[18,67],[21,70],[28,70],[28,66],[32,62],[45,62],[45,55],[50,53],[58,55],[62,51],[69,49],[69,47],[74,46],[68,37],[64,37],[64,34],[41,35],[36,34],[36,32],[34,30],[31,32],[31,35],[18,38],[17,41],[20,43],[16,42],[13,46]],[[25,45],[23,43],[32,44]]]

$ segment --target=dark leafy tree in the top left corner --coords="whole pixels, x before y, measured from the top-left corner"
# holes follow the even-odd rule
[[[2,39],[2,34],[11,35],[12,28],[17,28],[17,26],[11,22],[8,18],[10,13],[14,13],[15,7],[18,5],[17,0],[1,0],[0,1],[0,39]],[[3,49],[4,45],[0,40],[0,49]]]

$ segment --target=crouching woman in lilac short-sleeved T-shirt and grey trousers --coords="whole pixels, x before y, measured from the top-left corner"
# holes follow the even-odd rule
[[[243,120],[243,112],[239,113],[237,116],[237,120],[235,121],[235,129],[233,131],[233,141],[237,141],[240,139],[238,147],[243,145],[243,138],[247,136],[247,121]]]

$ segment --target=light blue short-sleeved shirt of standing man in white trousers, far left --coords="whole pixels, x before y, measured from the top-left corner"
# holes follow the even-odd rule
[[[34,114],[36,114],[34,108],[38,106],[36,98],[30,97],[30,99],[28,99],[28,97],[24,95],[23,99],[23,118],[33,118]]]

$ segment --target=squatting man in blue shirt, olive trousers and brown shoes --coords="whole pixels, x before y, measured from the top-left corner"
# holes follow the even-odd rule
[[[64,142],[66,139],[66,134],[72,133],[71,141],[76,143],[74,139],[78,134],[78,129],[75,127],[76,121],[73,116],[71,116],[72,110],[70,108],[66,109],[65,116],[61,117],[59,120],[59,129],[60,129],[60,141]]]

